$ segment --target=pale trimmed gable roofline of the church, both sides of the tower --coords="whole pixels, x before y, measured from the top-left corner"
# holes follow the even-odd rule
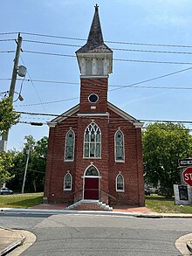
[[[132,115],[127,114],[126,112],[124,112],[123,110],[121,110],[119,107],[114,106],[112,103],[107,102],[107,107],[108,109],[110,109],[111,111],[113,111],[115,114],[120,115],[120,117],[122,117],[123,119],[131,122],[135,128],[141,128],[143,126],[143,122],[138,121],[137,119],[135,119]],[[73,114],[79,114],[79,104],[70,108],[69,110],[67,110],[65,113],[59,115],[58,117],[54,118],[52,121],[47,121],[47,124],[49,127],[55,127],[59,122],[64,121],[67,117],[71,117]],[[81,113],[80,115],[100,115],[99,113]],[[103,115],[104,113],[102,113]],[[107,114],[107,113],[106,113]]]

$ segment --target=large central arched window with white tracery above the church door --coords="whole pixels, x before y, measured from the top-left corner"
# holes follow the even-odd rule
[[[100,157],[100,145],[101,135],[99,126],[92,122],[86,128],[84,134],[84,157]]]

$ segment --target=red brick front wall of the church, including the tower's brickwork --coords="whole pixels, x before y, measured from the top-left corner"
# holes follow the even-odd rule
[[[48,156],[45,175],[45,197],[48,202],[77,202],[83,198],[85,170],[93,164],[99,170],[99,189],[116,198],[116,204],[144,205],[144,182],[142,168],[141,128],[124,120],[107,108],[107,79],[81,79],[80,113],[91,112],[92,104],[87,100],[90,93],[99,95],[99,102],[93,112],[108,112],[108,116],[77,117],[77,113],[50,128]],[[94,121],[101,130],[101,158],[84,158],[84,132]],[[72,128],[75,133],[75,157],[65,162],[65,135]],[[114,134],[120,128],[124,134],[125,163],[114,160]],[[72,175],[72,191],[64,191],[64,177],[67,171]],[[117,192],[116,176],[124,176],[125,191]],[[100,201],[108,203],[108,197],[101,192]],[[110,199],[112,201],[112,199]]]

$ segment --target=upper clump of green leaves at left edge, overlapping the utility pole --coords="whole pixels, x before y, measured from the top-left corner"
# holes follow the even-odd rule
[[[19,120],[19,114],[14,111],[10,98],[0,100],[0,135],[6,133]]]

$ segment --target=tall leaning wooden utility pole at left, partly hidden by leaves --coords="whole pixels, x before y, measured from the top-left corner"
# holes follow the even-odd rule
[[[18,33],[18,38],[16,43],[17,43],[17,50],[16,50],[15,59],[14,59],[14,66],[13,66],[12,78],[10,82],[10,92],[9,92],[11,104],[13,103],[13,97],[14,97],[16,80],[17,80],[18,60],[19,60],[21,45],[22,45],[22,37],[20,37],[20,33]],[[9,134],[9,131],[7,131],[6,134],[2,135],[2,140],[0,141],[0,151],[6,151],[7,149],[8,134]]]

